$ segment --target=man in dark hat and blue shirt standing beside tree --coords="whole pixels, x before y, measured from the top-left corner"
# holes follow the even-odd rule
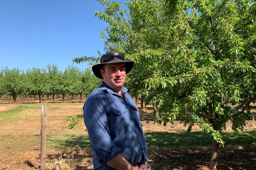
[[[94,75],[104,80],[83,106],[94,170],[148,169],[138,108],[123,87],[133,65],[133,61],[124,61],[124,54],[109,51],[92,67]]]

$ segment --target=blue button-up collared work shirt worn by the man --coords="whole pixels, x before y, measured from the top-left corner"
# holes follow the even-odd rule
[[[107,161],[121,153],[132,166],[144,164],[148,158],[138,108],[127,88],[124,99],[102,82],[86,99],[84,123],[93,153],[94,170],[114,170]]]

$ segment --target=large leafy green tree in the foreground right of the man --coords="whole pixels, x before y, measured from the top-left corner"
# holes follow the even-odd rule
[[[255,2],[132,0],[127,17],[120,3],[100,2],[105,10],[95,16],[109,23],[105,48],[135,61],[133,73],[141,74],[128,80],[143,80],[148,97],[157,94],[150,100],[158,123],[188,112],[188,130],[196,123],[211,136],[215,169],[225,123],[242,130],[255,102]]]

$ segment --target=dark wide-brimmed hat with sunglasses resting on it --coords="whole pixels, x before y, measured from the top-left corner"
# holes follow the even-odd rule
[[[94,75],[100,79],[103,79],[100,69],[104,66],[104,64],[111,63],[124,63],[125,64],[125,72],[129,73],[134,65],[134,61],[124,61],[124,54],[119,53],[118,51],[109,51],[102,55],[100,59],[100,64],[92,66],[92,72]]]

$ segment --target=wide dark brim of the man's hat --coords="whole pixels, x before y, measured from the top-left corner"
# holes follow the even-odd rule
[[[132,70],[132,67],[134,65],[134,61],[124,61],[122,59],[113,59],[113,60],[110,60],[108,62],[105,62],[105,63],[100,63],[100,64],[97,64],[97,65],[94,65],[92,66],[92,72],[93,74],[100,78],[100,79],[103,79],[102,75],[101,75],[101,72],[100,72],[100,69],[102,69],[102,67],[104,66],[104,64],[112,64],[112,63],[124,63],[125,64],[125,72],[126,74],[129,73],[131,70]]]

